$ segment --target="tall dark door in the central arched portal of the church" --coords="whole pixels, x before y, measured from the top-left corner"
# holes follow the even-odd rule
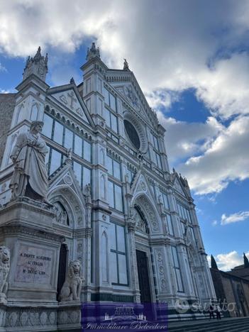
[[[148,271],[148,258],[144,251],[135,250],[137,255],[138,264],[138,282],[140,288],[140,301],[141,303],[151,302],[149,271]]]

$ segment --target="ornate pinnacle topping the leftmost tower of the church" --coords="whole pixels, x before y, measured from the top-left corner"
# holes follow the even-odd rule
[[[23,72],[23,79],[26,79],[31,74],[35,74],[40,79],[45,81],[46,74],[48,72],[48,53],[46,56],[42,56],[40,53],[40,46],[34,57],[28,57],[26,61],[26,67]]]

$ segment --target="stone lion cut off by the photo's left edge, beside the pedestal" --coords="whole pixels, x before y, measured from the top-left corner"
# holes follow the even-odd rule
[[[6,301],[11,255],[9,249],[0,246],[0,302]]]

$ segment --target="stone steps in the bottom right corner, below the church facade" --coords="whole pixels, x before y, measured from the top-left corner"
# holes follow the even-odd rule
[[[169,332],[249,332],[249,317],[169,323]]]

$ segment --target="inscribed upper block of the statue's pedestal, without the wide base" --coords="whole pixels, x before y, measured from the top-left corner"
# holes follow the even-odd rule
[[[63,237],[52,228],[49,206],[29,199],[0,211],[1,243],[11,251],[8,301],[57,304],[57,271]]]

